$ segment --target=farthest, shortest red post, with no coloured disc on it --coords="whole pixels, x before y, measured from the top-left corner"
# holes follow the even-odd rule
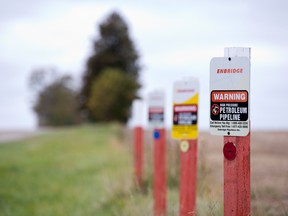
[[[134,128],[134,180],[136,187],[141,189],[143,173],[143,128]]]

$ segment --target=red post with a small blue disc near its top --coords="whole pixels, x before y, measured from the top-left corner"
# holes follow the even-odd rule
[[[154,131],[154,216],[166,215],[166,133]]]

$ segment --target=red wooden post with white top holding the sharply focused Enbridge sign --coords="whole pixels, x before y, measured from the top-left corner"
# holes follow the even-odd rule
[[[226,57],[246,56],[250,58],[249,48],[227,48]],[[236,158],[224,157],[224,215],[247,216],[250,207],[250,132],[247,136],[224,136],[236,146]]]

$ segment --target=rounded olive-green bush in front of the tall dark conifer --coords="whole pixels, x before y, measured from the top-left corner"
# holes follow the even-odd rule
[[[96,121],[126,122],[138,85],[118,69],[106,69],[94,80],[88,108]]]

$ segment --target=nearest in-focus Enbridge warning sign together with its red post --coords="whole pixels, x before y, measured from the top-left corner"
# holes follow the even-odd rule
[[[250,48],[210,63],[210,133],[224,136],[224,216],[250,215]]]

